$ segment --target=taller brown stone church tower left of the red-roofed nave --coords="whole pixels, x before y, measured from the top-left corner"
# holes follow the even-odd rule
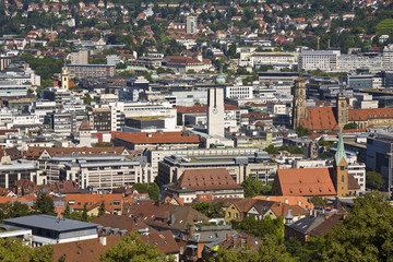
[[[299,76],[295,80],[294,87],[293,129],[299,127],[300,120],[306,117],[306,81]]]

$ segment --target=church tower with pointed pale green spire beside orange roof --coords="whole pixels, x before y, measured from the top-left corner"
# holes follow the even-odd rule
[[[338,133],[337,152],[334,155],[332,176],[333,184],[336,189],[337,196],[340,198],[348,195],[348,159],[344,150],[342,129]]]

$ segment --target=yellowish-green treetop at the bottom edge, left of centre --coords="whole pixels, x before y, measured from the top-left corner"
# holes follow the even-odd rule
[[[152,243],[143,241],[138,233],[120,239],[120,241],[111,246],[104,254],[100,255],[102,262],[155,262],[155,261],[170,261],[174,262],[175,258],[171,255],[169,259],[166,254],[157,251],[156,247]]]

